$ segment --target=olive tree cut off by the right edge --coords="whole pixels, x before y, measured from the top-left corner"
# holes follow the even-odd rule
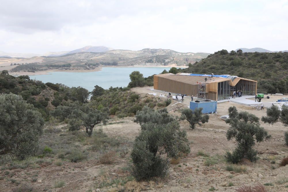
[[[262,116],[261,120],[264,123],[276,123],[281,122],[284,126],[288,126],[288,107],[282,107],[280,110],[277,106],[272,105],[272,107],[267,108],[267,116]],[[288,145],[288,131],[284,134],[286,145]]]

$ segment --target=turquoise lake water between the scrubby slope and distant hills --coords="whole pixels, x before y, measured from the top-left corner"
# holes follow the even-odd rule
[[[109,87],[127,87],[130,82],[129,75],[133,71],[140,71],[144,77],[159,74],[170,67],[103,67],[101,71],[94,72],[51,72],[47,75],[30,75],[30,79],[36,79],[43,83],[62,83],[68,87],[78,87],[92,91],[95,85],[104,89]]]

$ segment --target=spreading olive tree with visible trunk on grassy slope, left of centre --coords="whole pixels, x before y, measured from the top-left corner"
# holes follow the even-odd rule
[[[109,109],[105,107],[102,110],[98,110],[84,105],[79,109],[74,109],[69,118],[82,120],[81,125],[86,128],[86,133],[91,137],[95,125],[101,122],[106,125],[107,119],[109,118]]]

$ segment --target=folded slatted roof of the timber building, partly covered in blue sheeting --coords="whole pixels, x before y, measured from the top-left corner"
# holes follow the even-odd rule
[[[213,77],[211,77],[211,75],[202,75],[202,74],[193,74],[193,73],[177,73],[177,74],[166,73],[166,74],[160,74],[157,76],[165,77],[166,79],[180,81],[180,82],[188,83],[192,85],[200,83],[200,82],[212,83],[212,82],[229,81],[229,84],[231,86],[235,86],[241,79],[247,80],[247,81],[254,81],[251,79],[245,79],[242,77],[231,76],[231,75],[213,75]],[[254,81],[254,82],[257,82],[257,81]]]

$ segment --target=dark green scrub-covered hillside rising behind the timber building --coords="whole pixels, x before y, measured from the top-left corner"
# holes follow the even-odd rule
[[[225,50],[226,51],[226,50]],[[258,81],[258,91],[288,92],[288,53],[228,53],[218,51],[183,69],[187,73],[237,75]]]

